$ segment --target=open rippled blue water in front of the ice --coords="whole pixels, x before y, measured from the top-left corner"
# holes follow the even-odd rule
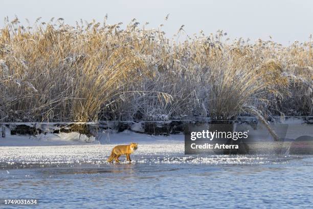
[[[35,208],[312,208],[313,157],[269,159],[250,165],[2,168],[0,199],[36,198]],[[0,207],[23,208],[3,203]]]

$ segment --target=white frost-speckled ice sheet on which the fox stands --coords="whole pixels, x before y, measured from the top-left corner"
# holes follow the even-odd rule
[[[60,145],[37,147],[0,148],[1,166],[58,165],[73,163],[107,163],[106,159],[115,144]],[[132,154],[132,163],[192,163],[192,164],[263,164],[271,162],[266,156],[186,156],[184,143],[141,143]],[[122,163],[125,157],[121,157]]]

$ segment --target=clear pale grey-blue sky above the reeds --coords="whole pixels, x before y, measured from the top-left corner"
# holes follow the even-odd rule
[[[288,45],[295,40],[306,41],[313,33],[312,0],[9,0],[0,4],[0,16],[17,15],[21,23],[25,18],[34,22],[37,17],[48,22],[51,17],[62,17],[65,23],[74,25],[80,18],[102,22],[108,14],[108,24],[123,22],[124,25],[136,18],[141,26],[149,22],[150,28],[165,24],[168,36],[178,31],[181,25],[187,34],[203,30],[205,34],[221,29],[229,37],[269,39]],[[167,22],[164,17],[170,13]],[[0,28],[4,22],[0,22]]]

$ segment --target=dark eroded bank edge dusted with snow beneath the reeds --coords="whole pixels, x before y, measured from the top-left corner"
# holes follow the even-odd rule
[[[193,118],[190,120],[166,120],[166,121],[99,121],[99,122],[1,122],[0,126],[5,130],[5,135],[31,135],[36,138],[49,138],[49,134],[78,132],[86,137],[96,137],[99,133],[123,132],[125,130],[142,133],[147,135],[172,135],[186,132],[190,126],[201,126],[208,128],[212,120],[209,117]],[[263,124],[256,117],[238,116],[232,123],[234,127],[239,126],[245,129],[264,129]],[[270,127],[287,129],[307,130],[313,127],[313,117],[285,117],[283,120],[279,117],[269,118]],[[242,127],[243,126],[243,127]],[[297,126],[297,127],[296,127]],[[2,132],[2,130],[0,130]],[[264,134],[264,133],[263,133]],[[3,134],[2,134],[3,135]],[[41,136],[40,136],[41,135]],[[42,135],[44,135],[42,137]],[[48,135],[48,136],[46,136]],[[80,140],[80,139],[79,139]],[[93,139],[82,139],[82,141],[93,141]]]

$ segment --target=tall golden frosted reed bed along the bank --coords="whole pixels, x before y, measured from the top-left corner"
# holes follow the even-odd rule
[[[312,37],[282,46],[200,32],[181,43],[133,19],[0,32],[0,121],[312,115]],[[177,35],[183,33],[183,29]]]

